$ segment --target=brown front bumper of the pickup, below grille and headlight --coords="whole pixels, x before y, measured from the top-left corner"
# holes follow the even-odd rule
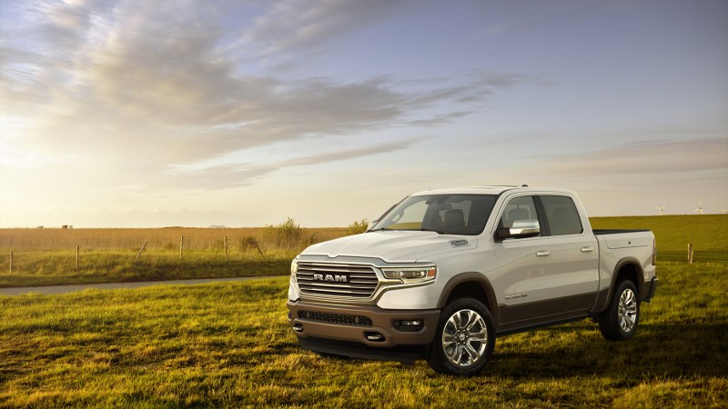
[[[287,305],[288,323],[304,347],[306,341],[315,340],[339,341],[340,345],[354,343],[373,348],[430,344],[440,319],[438,309],[384,310],[377,306],[312,304],[303,301],[288,301]],[[397,322],[403,321],[421,321],[421,328],[413,330],[401,325],[398,328]]]

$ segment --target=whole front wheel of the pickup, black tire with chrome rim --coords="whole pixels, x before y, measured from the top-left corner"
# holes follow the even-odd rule
[[[493,354],[495,327],[490,311],[475,298],[459,298],[440,313],[427,363],[439,374],[479,374]]]

